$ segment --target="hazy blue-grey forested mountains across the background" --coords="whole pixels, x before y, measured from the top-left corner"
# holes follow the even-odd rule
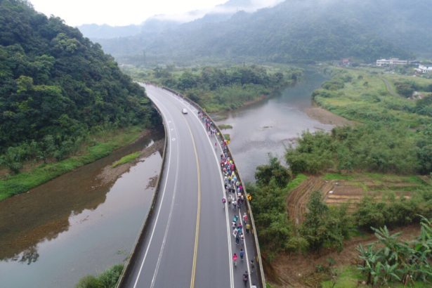
[[[128,62],[197,58],[310,62],[430,55],[432,5],[428,0],[287,0],[229,20],[195,20],[148,39],[100,40],[106,51]]]

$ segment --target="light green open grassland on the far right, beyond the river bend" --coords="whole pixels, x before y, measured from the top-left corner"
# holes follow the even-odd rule
[[[315,93],[315,102],[347,119],[357,122],[393,122],[402,124],[412,132],[424,124],[431,123],[431,117],[413,113],[416,101],[389,93],[383,79],[393,86],[397,81],[413,81],[420,86],[432,84],[432,79],[409,77],[398,74],[381,74],[368,70],[334,68],[334,75],[343,79],[341,89],[330,86]],[[341,81],[339,81],[341,82]],[[321,93],[320,93],[321,92]]]

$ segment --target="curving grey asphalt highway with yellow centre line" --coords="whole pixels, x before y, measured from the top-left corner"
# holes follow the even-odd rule
[[[168,145],[155,211],[123,287],[244,287],[249,258],[233,266],[239,247],[230,217],[236,211],[222,204],[220,145],[185,100],[155,86],[145,89],[162,112]]]

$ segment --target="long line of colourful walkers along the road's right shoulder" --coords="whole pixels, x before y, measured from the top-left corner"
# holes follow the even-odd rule
[[[235,173],[235,163],[233,159],[230,158],[228,153],[228,143],[227,141],[219,136],[218,130],[214,126],[214,123],[202,112],[198,112],[198,115],[207,130],[209,136],[215,136],[215,148],[217,148],[218,141],[221,144],[221,171],[223,174],[223,185],[225,188],[226,198],[223,197],[222,204],[223,207],[230,207],[233,209],[233,220],[231,222],[232,235],[235,238],[236,251],[233,253],[233,264],[237,267],[237,259],[240,256],[240,262],[244,262],[244,237],[245,234],[249,234],[251,230],[251,225],[249,224],[249,219],[247,213],[244,212],[242,215],[242,207],[246,207],[246,195],[244,194],[244,188],[237,174]],[[220,139],[220,140],[218,140]],[[244,209],[246,210],[246,209]],[[249,263],[251,268],[251,273],[254,271],[254,260],[252,259]],[[244,285],[247,284],[249,280],[248,270],[242,275],[242,280]]]

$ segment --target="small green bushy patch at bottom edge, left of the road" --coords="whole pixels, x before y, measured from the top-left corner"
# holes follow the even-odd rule
[[[100,273],[98,276],[87,275],[82,277],[75,288],[115,288],[120,275],[122,275],[124,265],[114,265]]]

